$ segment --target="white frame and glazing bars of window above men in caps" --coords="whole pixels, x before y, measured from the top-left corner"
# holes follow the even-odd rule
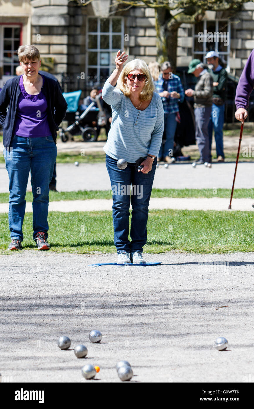
[[[231,24],[230,24],[230,20],[228,20],[227,18],[218,18],[215,20],[202,20],[203,21],[203,30],[207,30],[207,22],[208,21],[212,21],[215,22],[215,32],[219,32],[219,21],[225,21],[227,22],[227,28],[228,28],[228,32],[229,32],[229,44],[227,45],[227,51],[226,52],[219,52],[218,51],[218,42],[214,43],[214,51],[219,52],[220,56],[223,56],[223,58],[225,59],[226,63],[227,63],[227,67],[225,68],[225,70],[227,72],[230,72],[230,42],[231,42]],[[192,37],[193,38],[197,38],[198,35],[195,34],[195,25],[192,25]],[[203,56],[203,62],[205,63],[205,55],[207,53],[206,51],[206,43],[203,42],[203,51],[195,51],[194,49],[194,41],[192,44],[192,55],[197,55],[200,54],[200,56]]]

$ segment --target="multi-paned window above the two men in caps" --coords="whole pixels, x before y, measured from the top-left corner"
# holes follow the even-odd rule
[[[208,51],[219,52],[230,71],[230,22],[229,20],[203,20],[193,25],[193,50],[194,58],[205,62],[204,57]]]

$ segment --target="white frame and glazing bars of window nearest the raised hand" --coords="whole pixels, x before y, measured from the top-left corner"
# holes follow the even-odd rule
[[[93,32],[93,31],[88,31],[88,19],[91,18],[96,18],[97,19],[97,31]],[[112,31],[112,20],[113,18],[119,18],[121,19],[121,32],[114,32]],[[91,16],[87,16],[86,18],[86,78],[88,77],[88,53],[89,52],[97,52],[97,65],[89,65],[89,68],[97,68],[97,81],[91,81],[91,86],[92,85],[99,85],[100,84],[100,68],[109,68],[109,73],[111,73],[114,68],[115,68],[115,62],[112,62],[112,59],[114,57],[115,59],[115,55],[117,53],[117,51],[119,49],[121,49],[121,51],[124,49],[124,18],[123,17],[118,17],[118,16],[113,16],[113,17],[108,17],[109,19],[109,31],[108,32],[101,32],[100,31],[100,23],[99,20],[101,20],[101,18],[99,17],[91,17]],[[96,34],[97,35],[97,48],[91,48],[88,49],[88,34]],[[109,45],[112,45],[112,35],[121,35],[121,44],[119,44],[119,47],[117,47],[117,49],[115,48],[105,48],[105,49],[99,49],[99,44],[100,44],[100,36],[104,35],[104,34],[108,34],[109,35]],[[101,53],[103,52],[107,52],[109,53],[109,64],[108,65],[102,65],[100,63],[100,58],[101,58]]]

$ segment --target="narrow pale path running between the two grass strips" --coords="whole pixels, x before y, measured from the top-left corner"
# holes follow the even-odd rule
[[[227,210],[230,198],[151,198],[149,209]],[[253,199],[233,199],[232,210],[254,211]],[[49,202],[49,211],[112,210],[112,200],[61,200]],[[0,204],[0,213],[8,213],[8,203]],[[27,202],[26,212],[32,212],[32,203]]]

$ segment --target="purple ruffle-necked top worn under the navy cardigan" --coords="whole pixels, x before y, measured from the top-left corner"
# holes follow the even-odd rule
[[[42,79],[44,85],[43,75]],[[14,135],[24,137],[50,136],[51,131],[47,119],[47,101],[45,95],[42,91],[37,95],[27,94],[24,89],[22,75],[20,75],[20,91],[21,94],[18,97],[15,117]]]

